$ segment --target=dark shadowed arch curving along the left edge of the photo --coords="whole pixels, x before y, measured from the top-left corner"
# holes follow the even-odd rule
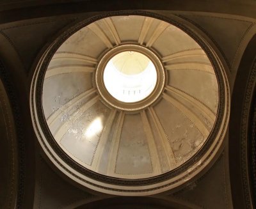
[[[1,70],[1,63],[0,63]],[[1,75],[1,74],[0,74]],[[17,135],[12,107],[0,76],[0,206],[15,208],[18,194]]]

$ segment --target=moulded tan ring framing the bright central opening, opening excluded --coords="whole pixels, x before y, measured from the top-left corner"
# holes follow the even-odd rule
[[[104,69],[108,64],[108,61],[116,54],[126,51],[140,52],[141,54],[147,56],[147,58],[149,58],[154,64],[157,72],[156,87],[154,88],[152,93],[148,95],[148,97],[138,102],[127,103],[116,100],[115,97],[111,96],[111,94],[106,89],[106,86],[104,85],[103,75]],[[153,102],[155,102],[159,95],[162,93],[165,83],[165,74],[160,59],[154,52],[152,52],[152,50],[147,49],[146,47],[143,47],[141,45],[124,44],[118,45],[117,47],[109,50],[106,54],[104,54],[102,59],[100,59],[99,65],[97,66],[97,70],[95,73],[95,82],[97,85],[97,89],[99,90],[100,96],[112,107],[115,107],[116,109],[120,109],[122,111],[139,111],[140,109],[145,109],[145,107],[148,107]]]

